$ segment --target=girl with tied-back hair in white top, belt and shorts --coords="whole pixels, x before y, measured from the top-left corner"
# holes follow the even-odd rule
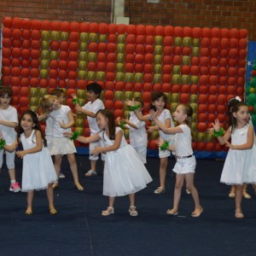
[[[163,125],[158,119],[158,113],[154,112],[154,110],[150,111],[151,118],[156,125],[159,125],[163,132],[175,135],[174,145],[169,145],[169,143],[159,140],[160,148],[175,150],[177,159],[173,168],[173,172],[176,172],[173,207],[172,209],[167,210],[166,213],[168,215],[178,214],[178,204],[184,180],[186,181],[186,186],[189,189],[195,204],[195,210],[191,213],[191,216],[200,217],[201,212],[203,211],[203,208],[200,205],[197,189],[194,185],[196,162],[191,143],[191,130],[189,128],[192,114],[193,109],[189,105],[179,104],[176,111],[173,113],[173,118],[178,123],[177,127],[166,128],[166,125]]]

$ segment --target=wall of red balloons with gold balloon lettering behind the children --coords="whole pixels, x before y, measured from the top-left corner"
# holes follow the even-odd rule
[[[152,92],[163,91],[171,111],[179,102],[194,109],[193,147],[199,151],[223,150],[207,128],[217,118],[227,122],[230,98],[243,99],[246,59],[245,29],[3,19],[2,82],[11,85],[20,113],[38,111],[39,97],[54,88],[67,90],[71,108],[73,92],[84,105],[86,84],[94,81],[115,117],[127,117],[123,101],[136,96],[147,113]],[[84,116],[76,129],[88,136]],[[149,137],[149,148],[157,136]]]

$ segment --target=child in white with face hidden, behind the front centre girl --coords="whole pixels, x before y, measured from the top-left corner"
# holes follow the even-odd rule
[[[138,111],[143,109],[143,99],[135,98],[135,104],[140,106]],[[129,140],[130,145],[137,151],[137,154],[140,156],[143,164],[147,163],[147,146],[148,146],[148,134],[145,127],[145,122],[137,118],[137,115],[131,111],[129,119],[117,119],[119,125],[124,124],[124,128],[129,129]],[[121,127],[122,128],[122,127]]]

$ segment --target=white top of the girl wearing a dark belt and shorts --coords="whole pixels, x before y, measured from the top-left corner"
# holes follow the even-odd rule
[[[175,153],[177,156],[193,154],[191,130],[188,125],[179,125],[183,133],[175,134]]]

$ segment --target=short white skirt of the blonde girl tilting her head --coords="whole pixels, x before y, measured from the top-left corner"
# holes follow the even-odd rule
[[[51,143],[51,155],[77,153],[73,140],[70,140],[68,137],[53,137]]]

